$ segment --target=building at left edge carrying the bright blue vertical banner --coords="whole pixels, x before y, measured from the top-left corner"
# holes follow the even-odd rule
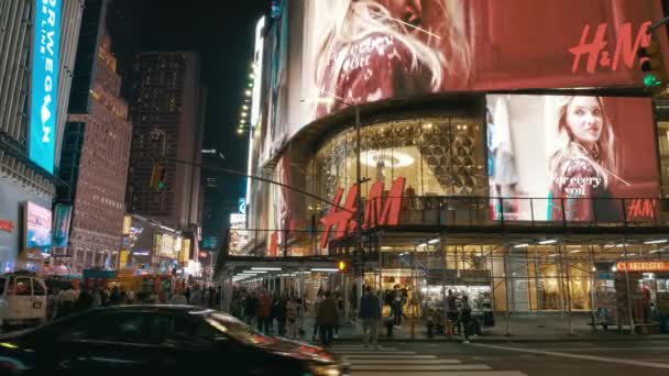
[[[0,273],[34,269],[43,259],[40,251],[50,251],[52,201],[59,184],[54,168],[84,4],[0,1]],[[31,106],[33,100],[41,106]],[[44,134],[31,137],[31,132]],[[28,201],[32,209],[41,207],[39,213],[22,209]],[[23,228],[34,241],[19,230]]]

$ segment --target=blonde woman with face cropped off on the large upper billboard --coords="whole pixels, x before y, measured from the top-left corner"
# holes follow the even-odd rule
[[[365,103],[463,87],[470,47],[448,0],[328,0],[315,44],[321,97]],[[322,13],[322,14],[320,14]],[[344,104],[319,104],[316,117]]]

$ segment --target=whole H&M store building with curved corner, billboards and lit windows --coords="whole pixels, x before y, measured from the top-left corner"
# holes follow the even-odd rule
[[[298,272],[352,259],[360,188],[365,284],[408,291],[408,314],[448,289],[479,311],[669,313],[669,108],[636,57],[660,1],[421,3],[419,24],[316,0],[265,22],[250,166],[282,185],[251,181],[228,276],[348,289]]]

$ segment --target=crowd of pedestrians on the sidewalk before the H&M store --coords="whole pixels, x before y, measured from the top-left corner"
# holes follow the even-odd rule
[[[265,334],[276,334],[289,339],[308,339],[328,346],[332,339],[337,339],[343,323],[354,322],[358,332],[363,334],[364,345],[377,345],[379,331],[382,325],[392,336],[393,328],[399,328],[405,317],[404,305],[406,296],[402,290],[391,290],[376,294],[371,286],[363,288],[364,295],[358,301],[352,294],[350,301],[344,301],[339,290],[329,291],[320,288],[316,299],[309,301],[306,296],[295,292],[271,294],[264,287],[256,289],[234,288],[230,303],[230,312],[245,321],[249,325],[257,328]],[[350,303],[350,310],[344,309]],[[383,317],[384,305],[390,307],[390,316]],[[456,297],[449,292],[449,318],[447,324],[451,332],[457,331],[469,341],[471,327],[471,306],[467,296],[460,298],[457,305]],[[346,317],[346,311],[353,314]],[[307,327],[307,319],[312,319],[312,328]],[[428,321],[428,331],[434,330],[436,323]],[[309,331],[310,329],[310,331]]]

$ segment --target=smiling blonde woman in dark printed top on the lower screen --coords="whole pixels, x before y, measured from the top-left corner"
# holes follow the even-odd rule
[[[550,220],[562,220],[562,215],[567,221],[593,221],[595,215],[601,222],[621,219],[611,185],[624,180],[616,175],[615,135],[602,98],[567,97],[559,103],[549,169]]]

